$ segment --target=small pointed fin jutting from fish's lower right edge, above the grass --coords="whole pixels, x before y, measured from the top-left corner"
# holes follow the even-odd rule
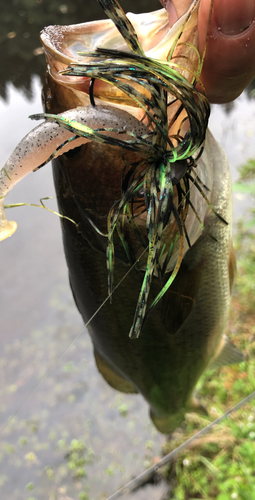
[[[225,365],[234,365],[245,361],[244,354],[232,344],[226,335],[223,335],[216,357],[210,362],[207,369],[220,368]]]

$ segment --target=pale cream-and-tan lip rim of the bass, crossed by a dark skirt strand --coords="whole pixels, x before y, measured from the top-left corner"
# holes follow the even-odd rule
[[[128,13],[141,46],[148,57],[166,60],[171,46],[171,28],[165,9],[145,14]],[[180,18],[176,25],[182,23]],[[84,60],[79,51],[91,52],[97,47],[124,50],[129,48],[110,19],[92,21],[70,26],[48,26],[41,32],[41,42],[46,51],[59,63]]]

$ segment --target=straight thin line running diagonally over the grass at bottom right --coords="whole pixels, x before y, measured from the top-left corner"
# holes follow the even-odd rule
[[[221,417],[218,417],[215,420],[213,420],[213,422],[211,422],[206,427],[201,429],[201,431],[197,432],[197,434],[195,434],[191,438],[187,439],[187,441],[184,441],[184,443],[182,443],[180,446],[175,448],[175,450],[170,451],[170,453],[165,455],[165,457],[163,457],[157,464],[152,465],[152,467],[149,467],[149,469],[147,469],[144,472],[142,472],[141,474],[139,474],[139,476],[136,476],[135,479],[132,479],[132,481],[125,484],[125,486],[123,486],[123,488],[121,488],[120,490],[113,493],[113,495],[108,497],[106,500],[117,500],[122,495],[132,493],[132,491],[141,487],[144,483],[146,483],[151,478],[151,476],[153,476],[155,474],[155,472],[158,471],[158,469],[160,469],[164,465],[167,465],[178,453],[180,453],[181,451],[188,448],[189,445],[191,443],[193,443],[193,441],[195,441],[196,439],[200,438],[201,436],[204,436],[205,434],[207,434],[215,425],[218,425],[222,420],[224,420],[224,418],[228,417],[228,415],[230,415],[231,413],[239,410],[239,408],[244,406],[246,403],[248,403],[253,398],[255,398],[255,391],[253,391],[251,394],[249,394],[249,396],[242,399],[242,401],[240,401],[235,406],[233,406],[232,408],[227,410],[225,413],[223,413],[223,415],[221,415]]]

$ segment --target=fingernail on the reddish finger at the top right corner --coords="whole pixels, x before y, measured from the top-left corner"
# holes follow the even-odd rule
[[[227,36],[240,35],[255,18],[254,0],[215,0],[214,18],[218,30]]]

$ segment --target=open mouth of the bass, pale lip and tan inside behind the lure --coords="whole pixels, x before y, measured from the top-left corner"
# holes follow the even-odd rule
[[[199,1],[196,0],[195,3],[199,4]],[[170,49],[174,46],[184,21],[186,21],[186,26],[185,31],[182,33],[182,44],[190,42],[196,44],[196,16],[197,13],[194,11],[187,22],[187,19],[185,19],[187,15],[185,15],[173,27],[169,26],[165,9],[145,14],[128,13],[126,19],[130,20],[134,27],[137,40],[146,57],[167,61]],[[79,92],[79,99],[84,101],[84,105],[88,104],[86,95],[89,93],[90,78],[84,75],[76,75],[75,78],[70,78],[67,74],[63,75],[62,71],[71,64],[79,62],[91,63],[93,58],[91,59],[90,54],[99,47],[105,50],[132,52],[112,19],[70,26],[48,26],[41,32],[40,38],[44,47],[49,74],[59,84],[72,88],[73,92]],[[181,52],[183,52],[183,47]],[[192,52],[192,56],[189,52]],[[175,51],[174,57],[178,58],[179,55],[180,46]],[[185,64],[182,64],[182,69],[180,68],[179,72],[190,81],[191,73],[194,73],[194,65],[197,65],[197,54],[194,50],[187,51],[186,48],[185,58]],[[190,63],[188,63],[189,58]],[[123,96],[121,91],[102,80],[95,82],[94,95],[100,100],[111,102],[111,104],[117,103],[118,105],[125,104],[133,108],[136,107],[134,101],[128,99],[127,95]],[[137,116],[137,110],[130,109],[130,112]]]

